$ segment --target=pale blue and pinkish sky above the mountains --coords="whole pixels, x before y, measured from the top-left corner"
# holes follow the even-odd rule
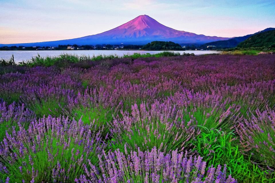
[[[180,31],[237,37],[275,27],[274,12],[274,0],[0,0],[0,43],[94,35],[139,15]]]

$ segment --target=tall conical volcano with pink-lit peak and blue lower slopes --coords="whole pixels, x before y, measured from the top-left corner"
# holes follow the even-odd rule
[[[227,40],[227,37],[197,35],[195,33],[178,31],[162,25],[148,15],[140,15],[135,19],[109,31],[75,39],[48,41],[40,43],[0,44],[0,46],[57,46],[67,44],[96,45],[96,44],[139,44],[152,41],[173,41],[175,43],[208,43],[211,41]]]

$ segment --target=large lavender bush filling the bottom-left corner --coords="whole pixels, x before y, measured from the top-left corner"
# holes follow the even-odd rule
[[[28,130],[7,135],[0,146],[0,180],[74,182],[83,167],[97,164],[105,144],[94,124],[65,117],[40,118]]]

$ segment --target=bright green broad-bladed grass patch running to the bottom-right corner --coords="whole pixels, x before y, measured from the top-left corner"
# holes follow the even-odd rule
[[[193,142],[195,146],[194,152],[203,157],[208,166],[213,164],[227,165],[227,172],[238,182],[267,182],[266,174],[258,166],[250,161],[250,157],[246,157],[241,153],[238,146],[237,136],[233,132],[225,133],[217,129],[208,130],[205,127],[203,132],[196,137]],[[271,176],[274,176],[273,174]]]

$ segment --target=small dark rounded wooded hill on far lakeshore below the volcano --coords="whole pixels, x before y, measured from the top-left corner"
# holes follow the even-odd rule
[[[182,50],[182,47],[172,41],[153,41],[144,45],[142,50]]]

